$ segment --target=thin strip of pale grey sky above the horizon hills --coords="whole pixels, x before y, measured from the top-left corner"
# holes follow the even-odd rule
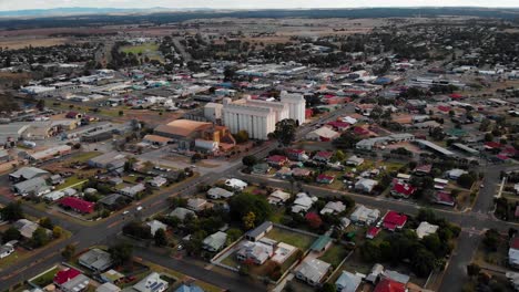
[[[288,9],[358,7],[519,7],[518,0],[0,0],[0,11],[63,7]]]

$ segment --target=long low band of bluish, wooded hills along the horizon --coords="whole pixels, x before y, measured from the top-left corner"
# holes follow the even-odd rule
[[[3,13],[3,18],[2,18]],[[50,10],[24,10],[0,12],[0,29],[20,30],[34,28],[77,28],[99,25],[122,25],[154,23],[164,24],[193,19],[211,18],[435,18],[442,15],[497,18],[519,21],[518,8],[358,8],[358,9],[263,9],[263,10],[212,10],[166,8],[151,9],[95,9],[95,8],[62,8]],[[26,17],[21,17],[26,13]],[[32,13],[32,17],[28,14]],[[38,14],[40,13],[40,14]],[[52,14],[53,13],[53,14]],[[9,15],[9,17],[7,17]],[[81,17],[79,17],[81,15]]]

